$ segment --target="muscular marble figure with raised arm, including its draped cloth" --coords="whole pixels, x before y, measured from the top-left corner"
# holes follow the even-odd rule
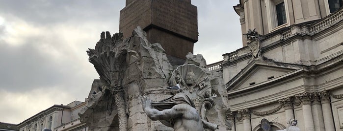
[[[147,96],[139,97],[142,101],[142,108],[150,119],[159,120],[162,124],[172,127],[174,131],[204,131],[205,129],[214,131],[218,129],[218,125],[201,119],[193,102],[183,93],[175,94],[160,102],[152,102]],[[172,108],[168,109],[168,106]]]

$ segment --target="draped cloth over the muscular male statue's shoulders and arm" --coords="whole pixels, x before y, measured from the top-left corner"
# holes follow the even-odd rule
[[[177,93],[177,94],[174,94],[171,97],[164,99],[164,100],[161,100],[159,102],[152,102],[151,106],[153,106],[153,108],[161,111],[164,109],[171,109],[175,105],[178,105],[178,104],[186,104],[186,105],[189,105],[195,109],[195,105],[194,105],[193,101],[184,93]],[[171,127],[171,128],[174,127],[173,119],[171,119],[171,120],[160,120],[160,122],[167,127]]]

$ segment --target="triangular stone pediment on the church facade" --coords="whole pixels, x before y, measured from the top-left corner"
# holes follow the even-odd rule
[[[248,88],[273,81],[303,67],[302,65],[254,60],[226,84],[227,91]]]

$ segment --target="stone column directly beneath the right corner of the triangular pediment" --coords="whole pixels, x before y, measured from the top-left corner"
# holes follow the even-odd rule
[[[307,92],[295,95],[295,98],[301,101],[305,131],[315,131],[315,125],[313,123],[313,117],[312,117],[310,96],[311,95]]]

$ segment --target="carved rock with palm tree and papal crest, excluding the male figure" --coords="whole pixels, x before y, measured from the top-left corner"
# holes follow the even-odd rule
[[[95,49],[87,51],[101,79],[96,86],[92,86],[87,106],[80,114],[81,121],[89,126],[90,131],[173,131],[158,121],[150,120],[137,98],[146,95],[158,101],[171,96],[172,92],[166,87],[175,86],[175,83],[185,79],[187,70],[182,72],[180,79],[175,76],[182,67],[191,68],[195,83],[198,82],[197,85],[192,84],[195,89],[193,102],[199,101],[201,104],[215,94],[217,97],[212,98],[214,101],[208,99],[202,104],[207,109],[203,114],[208,121],[225,125],[226,109],[222,107],[229,106],[222,74],[205,68],[206,62],[202,56],[188,54],[187,63],[197,66],[184,65],[174,70],[162,46],[150,44],[139,26],[132,32],[132,37],[125,40],[121,39],[120,33],[110,37],[106,32],[106,36],[102,33]],[[171,82],[171,78],[175,82]],[[181,83],[186,85],[185,81]],[[199,87],[199,84],[204,85]],[[204,91],[199,93],[199,89]]]

